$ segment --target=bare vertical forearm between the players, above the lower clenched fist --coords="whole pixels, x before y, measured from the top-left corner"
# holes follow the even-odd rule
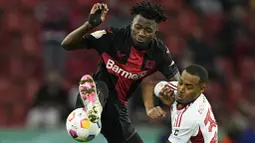
[[[143,91],[143,102],[146,111],[149,111],[154,107],[154,86],[155,82],[149,81],[147,83],[143,83],[142,91]]]

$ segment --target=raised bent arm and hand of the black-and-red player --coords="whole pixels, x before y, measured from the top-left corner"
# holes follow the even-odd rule
[[[82,40],[83,37],[104,21],[108,10],[104,3],[94,4],[90,11],[89,20],[68,34],[62,41],[61,46],[65,50],[87,48],[87,44]]]

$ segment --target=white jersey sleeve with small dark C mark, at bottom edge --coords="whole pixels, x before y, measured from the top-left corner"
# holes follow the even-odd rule
[[[171,143],[187,143],[190,138],[197,133],[198,128],[199,125],[196,123],[181,127],[173,127],[168,140]]]

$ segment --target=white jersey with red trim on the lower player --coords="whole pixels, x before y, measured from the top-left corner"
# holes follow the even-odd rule
[[[175,90],[178,82],[169,82]],[[217,143],[218,126],[212,108],[206,97],[201,94],[194,102],[182,109],[175,101],[171,106],[172,133],[171,143]]]

